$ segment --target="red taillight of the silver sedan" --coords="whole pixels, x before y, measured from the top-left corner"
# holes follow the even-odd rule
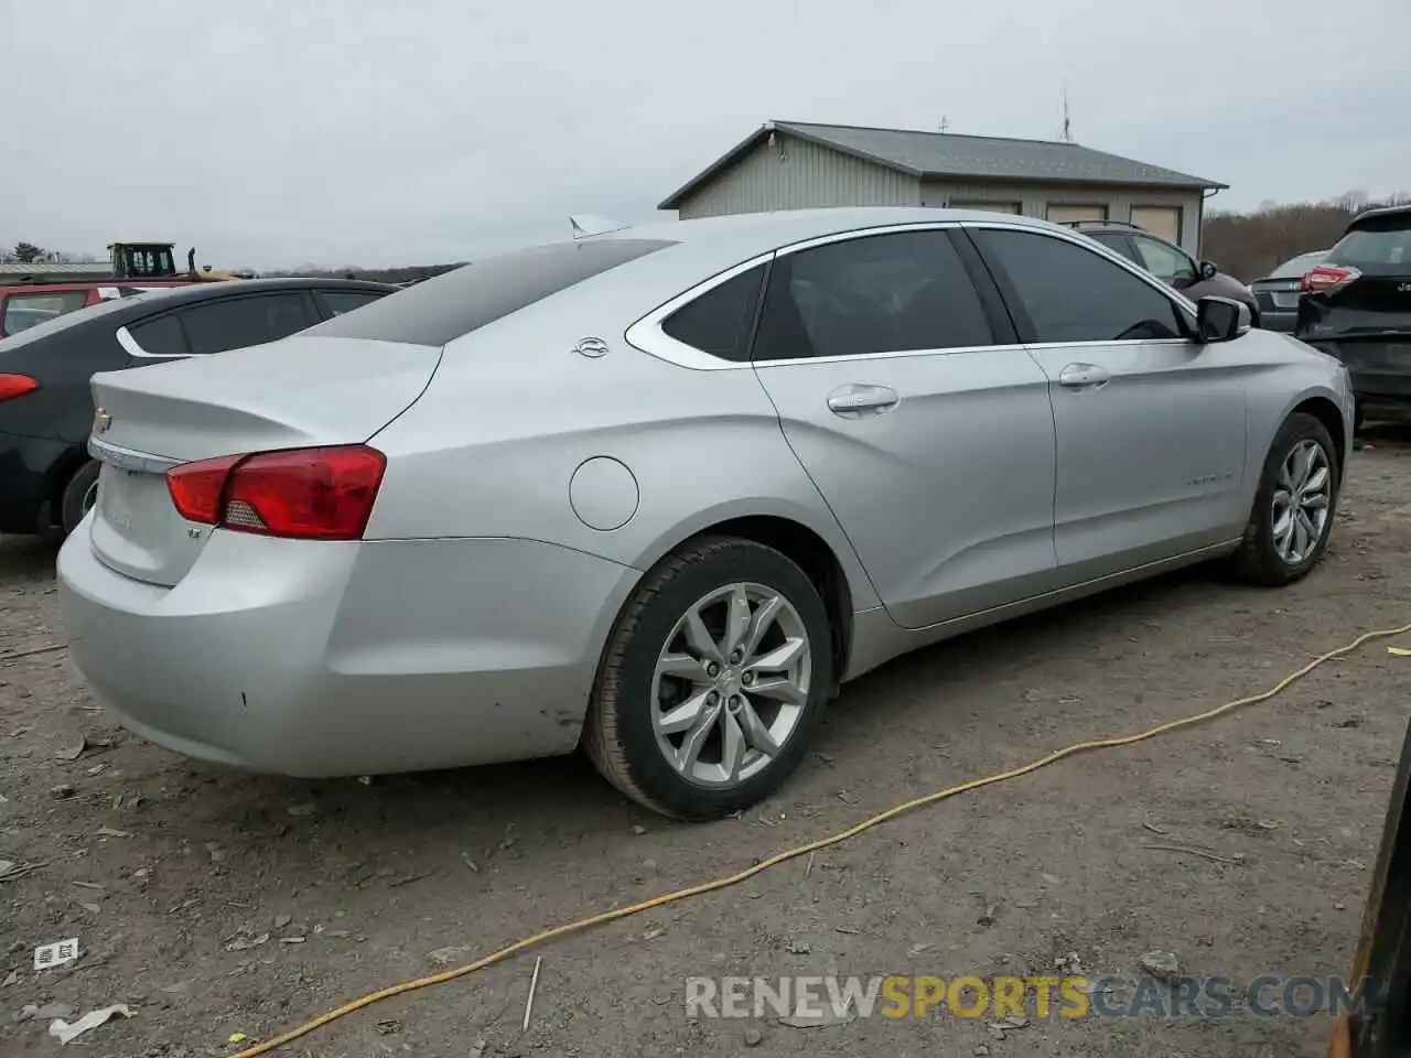
[[[357,540],[387,458],[377,449],[289,449],[220,456],[166,471],[182,518],[261,536]]]

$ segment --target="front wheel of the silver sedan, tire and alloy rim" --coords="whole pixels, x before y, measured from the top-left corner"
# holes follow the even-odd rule
[[[1339,466],[1328,427],[1302,412],[1274,436],[1235,573],[1252,584],[1302,580],[1328,547],[1338,509]]]

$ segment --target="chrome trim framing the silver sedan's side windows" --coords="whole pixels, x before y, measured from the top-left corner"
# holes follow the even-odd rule
[[[742,261],[738,265],[732,265],[722,272],[713,275],[687,291],[676,295],[670,300],[659,305],[652,312],[646,313],[635,323],[628,326],[624,333],[624,339],[629,346],[646,353],[658,360],[665,360],[676,367],[683,367],[690,371],[738,371],[741,368],[755,368],[755,367],[777,367],[782,364],[824,364],[824,363],[842,363],[842,361],[868,361],[878,360],[879,357],[895,358],[895,357],[934,357],[944,354],[959,354],[959,353],[978,353],[981,350],[1026,350],[1026,348],[1088,348],[1088,347],[1123,347],[1123,346],[1150,346],[1150,344],[1191,344],[1189,339],[1136,339],[1136,340],[1122,340],[1122,341],[1036,341],[1031,344],[1022,343],[1007,343],[1002,346],[965,346],[955,348],[923,348],[923,350],[900,350],[896,353],[859,353],[856,355],[845,357],[790,357],[786,360],[755,360],[752,363],[724,360],[721,357],[704,353],[694,346],[687,346],[684,341],[677,341],[670,334],[667,334],[662,324],[666,317],[673,312],[680,309],[697,298],[701,298],[717,286],[729,282],[737,275],[748,272],[751,268],[756,268],[762,264],[775,261],[780,257],[789,254],[797,254],[803,250],[813,250],[820,245],[830,245],[832,243],[847,243],[855,238],[869,238],[872,236],[892,236],[902,234],[907,231],[945,231],[951,229],[964,230],[998,230],[998,231],[1023,231],[1033,236],[1044,236],[1048,238],[1057,238],[1064,243],[1070,243],[1078,250],[1085,250],[1091,254],[1096,254],[1119,268],[1125,269],[1130,275],[1141,279],[1153,291],[1161,293],[1167,300],[1170,300],[1177,310],[1184,310],[1189,316],[1189,323],[1195,324],[1195,305],[1181,295],[1180,291],[1173,289],[1170,285],[1151,275],[1146,269],[1140,268],[1132,261],[1127,261],[1115,250],[1109,250],[1094,238],[1082,236],[1081,233],[1070,231],[1068,229],[1050,229],[1046,226],[1033,223],[1033,217],[1027,219],[1029,223],[1006,220],[996,217],[995,220],[919,220],[904,224],[879,224],[875,227],[849,229],[847,231],[831,231],[825,236],[814,236],[811,238],[804,238],[797,243],[789,243],[782,247],[776,247],[763,254],[758,254],[748,261]],[[135,344],[135,343],[134,343]],[[151,355],[151,354],[148,354]]]

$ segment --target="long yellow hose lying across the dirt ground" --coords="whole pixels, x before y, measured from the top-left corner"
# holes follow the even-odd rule
[[[1048,756],[1040,758],[1038,760],[1034,760],[1022,767],[1013,767],[1007,772],[996,772],[995,774],[983,776],[982,779],[971,779],[968,783],[961,783],[959,786],[952,786],[947,790],[937,790],[935,793],[924,794],[923,797],[914,797],[910,801],[903,801],[902,804],[888,808],[886,811],[879,813],[878,815],[873,815],[869,820],[864,820],[862,822],[849,827],[845,831],[838,831],[837,834],[818,838],[817,841],[811,841],[807,845],[799,845],[797,848],[793,849],[776,852],[769,859],[761,861],[755,866],[746,868],[745,870],[729,875],[727,877],[718,877],[713,882],[701,882],[700,884],[696,886],[677,889],[674,893],[663,893],[662,896],[653,896],[650,900],[643,900],[629,907],[619,907],[614,911],[602,911],[601,914],[594,914],[587,918],[580,918],[576,923],[567,923],[566,925],[556,925],[552,930],[536,932],[533,937],[526,937],[522,941],[515,941],[514,944],[501,948],[499,951],[491,952],[484,958],[476,959],[476,962],[467,963],[464,966],[442,971],[440,973],[432,973],[425,978],[416,978],[415,980],[406,980],[402,982],[401,985],[391,985],[389,987],[380,989],[377,992],[368,992],[365,996],[354,999],[350,1003],[344,1003],[337,1010],[330,1010],[329,1013],[322,1014],[313,1019],[312,1021],[299,1026],[298,1028],[291,1028],[288,1033],[277,1035],[272,1040],[265,1040],[264,1042],[257,1044],[255,1047],[240,1051],[238,1054],[233,1055],[233,1058],[257,1058],[257,1055],[270,1054],[271,1051],[284,1047],[288,1042],[293,1042],[295,1040],[308,1035],[313,1030],[322,1028],[330,1021],[336,1021],[340,1017],[346,1017],[347,1014],[351,1014],[356,1010],[363,1010],[364,1007],[370,1007],[374,1003],[380,1003],[384,999],[391,999],[392,996],[402,996],[406,995],[408,992],[416,992],[419,989],[430,987],[432,985],[442,985],[447,980],[463,978],[467,973],[474,973],[476,971],[492,966],[497,962],[508,959],[511,955],[518,955],[519,952],[528,948],[533,948],[539,944],[543,944],[545,941],[552,941],[559,937],[567,937],[569,934],[581,932],[594,925],[615,923],[619,918],[628,918],[635,914],[642,914],[643,911],[650,911],[655,907],[665,907],[666,904],[674,904],[682,900],[689,900],[694,896],[703,896],[704,893],[715,893],[721,889],[728,889],[729,886],[738,886],[741,882],[745,882],[753,877],[755,875],[761,875],[765,870],[769,870],[770,868],[776,868],[780,863],[785,863],[790,859],[797,859],[799,856],[806,856],[810,852],[817,852],[818,849],[825,849],[830,845],[838,845],[844,841],[848,841],[849,838],[855,838],[864,831],[869,831],[873,827],[895,820],[897,815],[909,813],[913,808],[921,808],[928,804],[935,804],[937,801],[944,801],[950,797],[968,793],[971,790],[979,790],[982,786],[993,786],[995,783],[1003,783],[1010,779],[1019,779],[1020,776],[1026,776],[1030,772],[1037,772],[1040,767],[1046,767],[1054,763],[1055,760],[1062,760],[1064,758],[1074,756],[1075,753],[1085,753],[1092,749],[1113,749],[1116,746],[1130,746],[1134,742],[1144,742],[1146,739],[1150,738],[1168,735],[1173,731],[1181,731],[1182,728],[1189,728],[1197,724],[1204,724],[1205,721],[1215,719],[1216,717],[1221,717],[1226,712],[1233,712],[1235,710],[1243,708],[1246,705],[1257,705],[1259,703],[1268,701],[1270,698],[1283,694],[1285,690],[1288,690],[1288,687],[1291,687],[1294,683],[1308,676],[1308,673],[1311,673],[1318,666],[1325,664],[1326,662],[1331,662],[1336,657],[1343,657],[1345,655],[1350,655],[1353,650],[1357,650],[1363,643],[1367,643],[1373,639],[1390,639],[1391,636],[1405,635],[1408,632],[1411,632],[1411,624],[1401,625],[1400,628],[1386,628],[1386,629],[1377,629],[1374,632],[1366,632],[1353,639],[1346,646],[1339,646],[1336,650],[1329,650],[1325,655],[1319,655],[1308,664],[1305,664],[1302,669],[1291,671],[1283,680],[1280,680],[1267,691],[1263,691],[1260,694],[1253,694],[1247,698],[1236,698],[1235,701],[1228,701],[1223,705],[1216,705],[1215,708],[1206,710],[1205,712],[1197,712],[1194,717],[1173,719],[1168,724],[1161,724],[1158,726],[1149,728],[1147,731],[1140,731],[1134,735],[1120,735],[1118,738],[1096,739],[1094,742],[1075,742],[1071,746],[1055,749]]]

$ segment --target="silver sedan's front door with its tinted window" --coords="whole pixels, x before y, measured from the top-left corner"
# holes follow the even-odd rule
[[[971,230],[1053,396],[1054,546],[1081,583],[1239,536],[1239,341],[1201,346],[1157,279],[1058,233]]]

